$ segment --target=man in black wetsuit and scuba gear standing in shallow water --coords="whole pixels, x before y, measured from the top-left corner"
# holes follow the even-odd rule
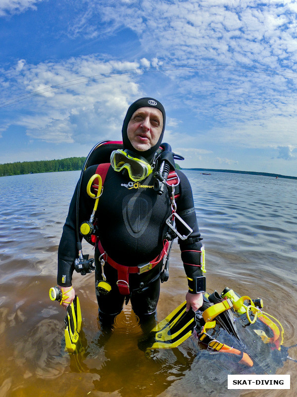
[[[183,158],[162,143],[164,129],[165,110],[159,101],[135,101],[123,122],[123,142],[103,168],[98,161],[83,170],[70,203],[58,249],[61,304],[67,308],[75,299],[74,269],[83,267],[81,273],[86,273],[82,264],[90,260],[82,255],[81,241],[88,234],[85,229],[92,229],[95,266],[90,267],[95,269],[100,324],[112,327],[129,300],[140,323],[155,317],[160,281],[168,277],[166,263],[175,237],[189,285],[187,311],[196,312],[203,303],[202,239],[192,189],[187,177],[175,170],[174,158]],[[96,187],[94,206],[90,191],[96,192]],[[85,222],[89,218],[92,222]],[[84,225],[80,233],[78,225]]]

